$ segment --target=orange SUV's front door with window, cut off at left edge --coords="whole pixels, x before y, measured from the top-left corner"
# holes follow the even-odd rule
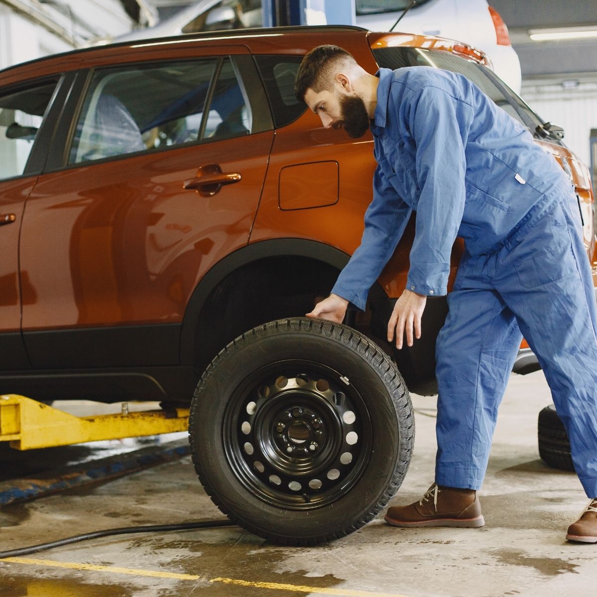
[[[33,189],[43,150],[42,123],[58,79],[27,82],[0,90],[0,367],[29,367],[21,338],[21,300],[35,301],[27,270],[19,268],[19,233],[27,196]],[[37,141],[36,141],[37,140]],[[2,388],[0,391],[10,391]]]

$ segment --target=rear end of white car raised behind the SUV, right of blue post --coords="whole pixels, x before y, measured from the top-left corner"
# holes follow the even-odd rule
[[[371,31],[389,31],[410,0],[356,0],[356,24]],[[493,70],[517,94],[521,65],[510,45],[508,29],[486,0],[417,0],[394,29],[439,35],[483,51]]]

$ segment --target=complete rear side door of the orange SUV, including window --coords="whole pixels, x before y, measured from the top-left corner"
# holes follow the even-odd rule
[[[197,282],[248,242],[273,140],[248,51],[138,52],[88,73],[27,200],[36,368],[177,364]]]

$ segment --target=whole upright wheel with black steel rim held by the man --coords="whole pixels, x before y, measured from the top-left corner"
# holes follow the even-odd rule
[[[345,325],[281,319],[213,360],[190,407],[195,470],[219,509],[281,544],[365,525],[398,491],[414,417],[386,353]]]

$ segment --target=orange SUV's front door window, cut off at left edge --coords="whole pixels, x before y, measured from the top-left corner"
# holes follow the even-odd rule
[[[21,176],[57,81],[0,95],[0,179]]]

